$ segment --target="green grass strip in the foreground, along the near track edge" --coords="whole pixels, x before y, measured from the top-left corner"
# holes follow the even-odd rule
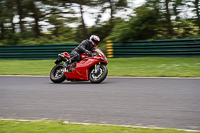
[[[194,133],[177,129],[122,127],[114,125],[83,125],[64,121],[0,120],[0,133]],[[195,132],[200,133],[200,132]]]

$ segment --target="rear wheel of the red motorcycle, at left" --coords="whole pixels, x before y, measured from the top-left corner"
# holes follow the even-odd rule
[[[64,69],[62,64],[54,66],[50,72],[51,81],[54,83],[62,83],[66,79]]]

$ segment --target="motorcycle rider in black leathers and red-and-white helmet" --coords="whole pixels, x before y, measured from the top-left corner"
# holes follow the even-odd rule
[[[96,35],[91,35],[89,40],[83,40],[74,50],[71,51],[70,59],[65,62],[64,66],[66,68],[70,67],[72,62],[79,62],[81,60],[81,54],[90,54],[95,50],[95,47],[98,46],[100,38]]]

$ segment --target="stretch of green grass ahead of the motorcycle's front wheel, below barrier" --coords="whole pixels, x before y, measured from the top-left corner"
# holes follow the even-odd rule
[[[200,58],[113,58],[110,76],[200,77]]]

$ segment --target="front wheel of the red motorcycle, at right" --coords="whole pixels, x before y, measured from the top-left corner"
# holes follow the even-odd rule
[[[108,74],[108,69],[105,65],[100,66],[99,72],[95,72],[95,68],[93,68],[89,74],[89,80],[91,83],[101,83],[104,81]]]

